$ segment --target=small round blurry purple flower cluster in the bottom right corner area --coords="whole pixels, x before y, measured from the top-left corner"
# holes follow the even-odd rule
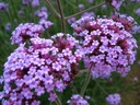
[[[109,104],[109,105],[118,105],[120,103],[120,95],[118,93],[115,93],[115,94],[109,94],[107,97],[106,97],[106,102]]]

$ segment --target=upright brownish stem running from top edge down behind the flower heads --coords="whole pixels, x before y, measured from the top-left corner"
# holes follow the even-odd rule
[[[60,16],[61,16],[62,33],[66,33],[66,20],[65,20],[65,15],[63,15],[63,12],[62,12],[62,7],[61,7],[61,3],[60,3],[60,0],[57,0],[57,4],[58,4],[58,9],[59,9]]]

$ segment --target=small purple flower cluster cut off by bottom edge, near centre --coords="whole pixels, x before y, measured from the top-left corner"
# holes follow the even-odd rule
[[[71,96],[71,98],[67,102],[69,105],[90,105],[88,103],[88,100],[90,100],[89,96],[85,96],[85,100],[79,95],[79,94],[74,94]]]

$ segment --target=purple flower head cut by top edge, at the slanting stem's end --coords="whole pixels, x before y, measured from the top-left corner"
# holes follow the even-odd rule
[[[116,10],[119,10],[124,0],[106,0],[106,1],[109,2],[110,5],[114,7]]]

